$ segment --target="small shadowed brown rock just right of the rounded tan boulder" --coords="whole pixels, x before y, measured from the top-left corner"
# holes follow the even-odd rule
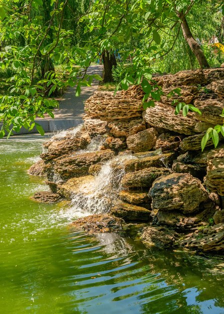
[[[173,150],[179,147],[182,136],[172,135],[170,133],[162,133],[158,136],[155,148],[161,148],[162,151]]]

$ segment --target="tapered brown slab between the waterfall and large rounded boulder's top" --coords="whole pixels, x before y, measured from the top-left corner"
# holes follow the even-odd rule
[[[158,177],[170,174],[167,168],[150,167],[124,175],[121,185],[126,188],[151,188]]]

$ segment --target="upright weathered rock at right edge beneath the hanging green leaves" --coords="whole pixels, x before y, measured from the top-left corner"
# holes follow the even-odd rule
[[[224,148],[212,149],[207,154],[207,175],[204,184],[211,192],[224,196]]]

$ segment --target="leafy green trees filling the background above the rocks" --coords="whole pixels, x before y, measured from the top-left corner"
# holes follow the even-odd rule
[[[82,86],[91,84],[94,76],[86,70],[100,54],[105,80],[112,80],[115,50],[124,61],[132,58],[118,88],[141,82],[144,106],[153,105],[147,98],[158,100],[162,93],[148,83],[153,73],[220,65],[222,57],[208,58],[212,51],[201,43],[214,34],[223,38],[223,8],[223,1],[213,0],[0,2],[0,66],[8,71],[10,85],[0,95],[0,135],[34,125],[43,133],[35,119],[53,117],[57,102],[49,97],[68,85],[76,86],[79,95]]]

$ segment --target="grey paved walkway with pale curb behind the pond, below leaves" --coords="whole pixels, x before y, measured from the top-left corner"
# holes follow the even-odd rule
[[[87,74],[98,74],[102,76],[103,66],[92,65],[89,67]],[[83,122],[84,102],[97,90],[99,81],[93,80],[91,87],[82,87],[81,95],[75,96],[76,86],[70,87],[65,92],[63,99],[59,102],[59,108],[54,111],[55,118],[46,119],[38,118],[36,121],[43,127],[45,132],[54,132],[62,129],[68,129]],[[37,133],[36,127],[29,132],[22,128],[18,134]]]

